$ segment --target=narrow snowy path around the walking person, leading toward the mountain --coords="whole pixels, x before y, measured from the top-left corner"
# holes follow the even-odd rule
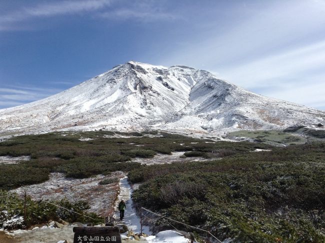
[[[120,189],[118,198],[115,203],[114,217],[116,221],[119,220],[119,211],[117,207],[118,203],[123,198],[126,204],[126,209],[124,212],[124,220],[122,220],[122,223],[126,224],[129,230],[132,230],[133,232],[140,232],[140,217],[136,215],[135,209],[133,208],[133,201],[131,199],[131,193],[133,189],[128,183],[127,177],[121,178],[119,183]],[[146,234],[151,233],[148,226],[142,226],[142,232]]]

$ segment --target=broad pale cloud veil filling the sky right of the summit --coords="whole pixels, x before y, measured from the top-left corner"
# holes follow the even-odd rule
[[[206,69],[253,92],[324,109],[324,1],[267,5],[250,10],[240,24],[225,21],[222,32],[215,23],[196,33],[200,41],[177,46],[160,63]]]

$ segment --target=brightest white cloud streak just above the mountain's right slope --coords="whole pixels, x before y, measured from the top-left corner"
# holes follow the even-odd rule
[[[245,88],[272,86],[276,79],[303,82],[304,75],[322,70],[325,60],[325,41],[248,62],[238,67],[218,70],[222,78]],[[323,70],[325,77],[325,70]],[[269,82],[272,80],[272,83]]]

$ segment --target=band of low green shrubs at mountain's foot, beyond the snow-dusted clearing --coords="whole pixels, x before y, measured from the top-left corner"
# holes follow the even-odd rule
[[[43,182],[50,172],[61,172],[74,178],[107,175],[113,171],[128,172],[140,166],[139,163],[130,163],[131,158],[150,158],[156,153],[191,151],[185,155],[223,157],[252,151],[256,146],[267,148],[266,145],[248,142],[237,143],[234,147],[231,142],[212,143],[211,140],[166,133],[151,132],[150,135],[158,135],[153,137],[141,133],[118,133],[124,136],[122,138],[112,138],[113,134],[107,131],[53,132],[18,136],[1,142],[0,156],[29,155],[31,160],[0,164],[0,189]],[[79,140],[82,138],[92,140]]]

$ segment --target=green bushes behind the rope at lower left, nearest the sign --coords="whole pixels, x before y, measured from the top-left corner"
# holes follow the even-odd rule
[[[11,196],[6,197],[7,195]],[[67,222],[92,222],[94,224],[103,222],[103,218],[97,216],[95,213],[85,212],[85,210],[90,208],[87,202],[77,201],[72,203],[66,199],[62,199],[60,201],[52,201],[52,203],[82,215],[64,210],[44,201],[34,201],[27,196],[26,221],[23,222],[24,200],[18,196],[0,190],[0,228],[13,229],[17,227],[29,227],[30,225],[46,223],[50,219],[58,220],[59,218]],[[20,219],[18,219],[19,217]],[[18,220],[12,220],[12,218]]]

